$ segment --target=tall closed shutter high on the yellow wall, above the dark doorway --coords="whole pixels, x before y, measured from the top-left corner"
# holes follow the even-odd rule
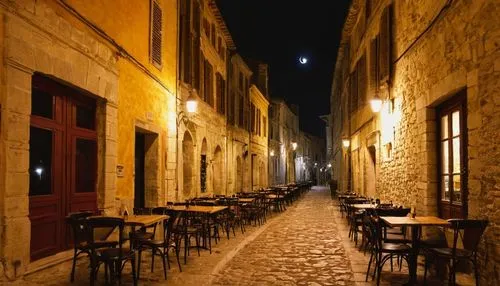
[[[151,62],[157,68],[162,65],[162,29],[163,29],[163,12],[158,0],[151,1],[151,47],[150,57]]]

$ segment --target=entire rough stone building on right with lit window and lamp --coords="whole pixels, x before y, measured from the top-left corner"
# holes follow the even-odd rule
[[[500,283],[498,11],[486,0],[353,1],[331,98],[341,190],[488,219],[488,285]]]

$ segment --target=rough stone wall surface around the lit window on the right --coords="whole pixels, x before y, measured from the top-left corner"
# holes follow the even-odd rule
[[[362,18],[365,1],[354,1],[344,31],[343,42],[352,25]],[[380,33],[381,12],[389,3],[394,8],[392,31],[392,79],[389,88],[382,89],[382,99],[394,99],[395,113],[384,110],[373,114],[362,105],[353,114],[346,113],[349,98],[349,73],[370,47],[370,41]],[[500,230],[498,195],[500,153],[498,148],[500,111],[498,58],[500,58],[500,23],[497,20],[498,1],[451,1],[433,26],[424,32],[447,1],[378,1],[374,4],[366,31],[359,44],[343,47],[351,57],[339,58],[332,109],[338,120],[334,141],[342,136],[351,138],[351,162],[338,156],[342,166],[335,177],[343,187],[351,180],[355,191],[392,200],[406,206],[415,205],[421,214],[437,215],[437,148],[435,108],[461,89],[467,92],[467,163],[468,217],[488,219],[485,239],[480,244],[481,279],[498,284],[500,274]],[[358,35],[359,36],[359,35]],[[357,38],[356,35],[353,38]],[[352,43],[351,43],[352,44]],[[407,50],[408,49],[408,50]],[[407,51],[406,51],[407,50]],[[403,54],[404,53],[404,54]],[[397,61],[396,61],[397,60]],[[368,77],[369,78],[369,77]],[[371,98],[374,94],[367,94]],[[341,106],[340,109],[338,106]],[[373,120],[373,123],[370,123]],[[376,140],[370,140],[375,135]],[[392,145],[388,156],[387,144]],[[375,192],[367,187],[368,147],[376,150]],[[340,151],[340,150],[339,150]],[[349,157],[347,157],[349,158]],[[352,172],[349,173],[349,164]],[[349,176],[352,177],[349,179]]]

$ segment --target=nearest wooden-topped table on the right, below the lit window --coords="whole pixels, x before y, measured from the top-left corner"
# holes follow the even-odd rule
[[[422,226],[450,226],[450,223],[444,219],[435,216],[420,216],[415,218],[410,217],[394,217],[382,216],[380,217],[390,227],[409,226],[411,227],[412,236],[412,251],[409,257],[409,274],[410,281],[408,284],[417,284],[417,257],[420,248],[419,234]]]

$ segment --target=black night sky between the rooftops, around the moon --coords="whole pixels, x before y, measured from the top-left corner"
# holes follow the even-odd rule
[[[271,97],[298,104],[300,129],[324,136],[349,0],[217,0],[238,52],[270,65]],[[308,58],[300,65],[298,58]]]

